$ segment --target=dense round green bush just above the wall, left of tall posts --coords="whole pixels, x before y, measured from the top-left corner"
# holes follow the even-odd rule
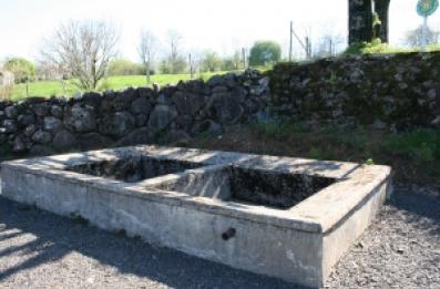
[[[250,49],[250,65],[270,65],[282,59],[282,48],[274,41],[257,41]]]

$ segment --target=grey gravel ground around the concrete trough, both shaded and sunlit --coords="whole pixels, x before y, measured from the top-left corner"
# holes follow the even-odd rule
[[[440,288],[440,198],[397,192],[328,288]],[[0,197],[0,288],[293,288]]]

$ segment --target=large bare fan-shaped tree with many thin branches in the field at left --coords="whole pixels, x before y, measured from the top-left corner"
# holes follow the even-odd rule
[[[116,55],[119,37],[105,21],[70,21],[45,40],[41,54],[82,90],[95,90]]]

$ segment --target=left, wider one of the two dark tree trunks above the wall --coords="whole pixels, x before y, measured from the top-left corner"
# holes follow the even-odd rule
[[[348,0],[348,43],[370,42],[371,39],[371,0]]]

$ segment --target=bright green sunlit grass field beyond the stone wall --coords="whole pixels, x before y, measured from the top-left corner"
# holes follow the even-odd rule
[[[195,74],[195,79],[207,80],[215,74],[224,74],[225,71],[219,72],[207,72],[203,74]],[[187,81],[191,79],[190,74],[157,74],[152,75],[152,82],[158,83],[161,86],[165,84],[176,84],[178,81]],[[111,76],[104,79],[100,82],[98,91],[105,90],[123,90],[125,87],[139,87],[146,86],[146,81],[144,75],[129,75],[129,76]],[[61,96],[72,96],[80,92],[70,81],[39,81],[31,82],[27,84],[18,84],[13,87],[11,100],[19,101],[29,96],[45,96],[50,97],[52,95]]]

